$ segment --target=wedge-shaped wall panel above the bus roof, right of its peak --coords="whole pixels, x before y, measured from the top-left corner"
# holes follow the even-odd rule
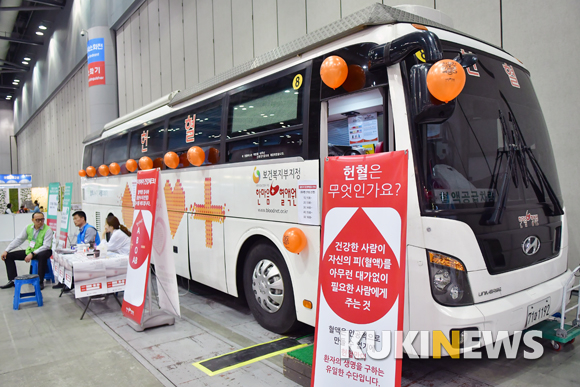
[[[501,46],[500,0],[437,0],[437,9],[451,16],[459,31]]]

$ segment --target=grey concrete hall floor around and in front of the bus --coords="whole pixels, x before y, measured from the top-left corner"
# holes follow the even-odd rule
[[[7,243],[0,242],[0,251]],[[19,273],[28,264],[18,263]],[[6,281],[0,264],[0,284]],[[281,336],[262,329],[238,300],[201,285],[180,288],[182,317],[173,326],[135,332],[113,298],[91,303],[46,283],[44,306],[12,309],[14,289],[0,289],[0,386],[297,386],[276,356],[216,376],[191,365]],[[300,335],[313,333],[306,328]],[[579,344],[525,360],[403,361],[402,386],[578,386]],[[338,387],[338,386],[337,386]]]

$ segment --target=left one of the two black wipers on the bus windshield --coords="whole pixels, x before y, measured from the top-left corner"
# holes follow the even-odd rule
[[[518,184],[517,169],[514,167],[514,164],[516,162],[515,161],[516,145],[513,142],[513,133],[510,133],[510,131],[508,130],[508,126],[505,122],[505,118],[501,110],[499,110],[498,119],[501,124],[503,148],[501,150],[498,148],[497,150],[495,164],[493,166],[493,173],[491,175],[491,183],[489,189],[490,190],[495,189],[496,192],[498,192],[498,198],[495,201],[493,213],[486,222],[489,225],[496,225],[501,223],[501,217],[506,208],[507,196],[510,187],[509,184],[510,175],[514,182],[514,185],[517,187]],[[501,179],[501,187],[498,190],[497,184],[504,157],[506,158],[507,166],[504,168],[503,178]]]

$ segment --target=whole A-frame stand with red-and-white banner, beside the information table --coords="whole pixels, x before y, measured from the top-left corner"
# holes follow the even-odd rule
[[[139,171],[131,230],[131,250],[123,315],[138,332],[160,325],[173,325],[173,315],[180,315],[177,277],[171,252],[169,219],[159,169]],[[159,308],[151,307],[151,263],[159,292]],[[146,297],[149,295],[149,297]],[[145,303],[148,301],[148,311]]]

